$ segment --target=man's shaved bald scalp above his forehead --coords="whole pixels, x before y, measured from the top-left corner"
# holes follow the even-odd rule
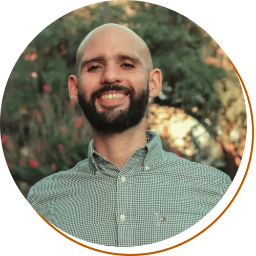
[[[76,53],[76,73],[80,74],[81,62],[84,52],[90,50],[95,46],[96,41],[101,41],[102,44],[110,44],[111,40],[125,40],[127,45],[131,46],[136,54],[144,62],[148,72],[153,69],[153,62],[150,50],[148,49],[144,40],[139,37],[134,31],[118,24],[104,24],[93,31],[91,31],[81,42]],[[120,41],[120,44],[122,42]]]

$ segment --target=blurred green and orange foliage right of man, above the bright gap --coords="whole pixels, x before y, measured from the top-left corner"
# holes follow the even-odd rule
[[[163,73],[163,89],[154,102],[180,108],[203,124],[219,143],[224,171],[233,179],[245,144],[246,109],[225,53],[205,31],[177,12],[137,1],[130,2],[130,9],[129,28],[145,40],[155,68]]]

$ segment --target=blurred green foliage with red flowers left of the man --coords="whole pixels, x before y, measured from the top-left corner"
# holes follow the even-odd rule
[[[69,103],[68,77],[83,38],[106,22],[123,22],[124,14],[108,3],[77,9],[42,30],[18,58],[1,109],[4,154],[17,184],[33,185],[87,157],[92,135]]]

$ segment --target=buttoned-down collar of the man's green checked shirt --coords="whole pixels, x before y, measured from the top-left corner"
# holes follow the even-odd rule
[[[147,144],[141,146],[133,154],[134,157],[144,158],[145,169],[150,170],[160,160],[163,154],[161,139],[156,132],[146,131]],[[88,160],[94,172],[100,171],[100,164],[111,163],[94,150],[93,140],[89,143]]]

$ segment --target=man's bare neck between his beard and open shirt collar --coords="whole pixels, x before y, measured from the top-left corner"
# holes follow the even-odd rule
[[[147,144],[145,119],[122,133],[105,133],[92,129],[94,150],[122,169],[129,157]]]

